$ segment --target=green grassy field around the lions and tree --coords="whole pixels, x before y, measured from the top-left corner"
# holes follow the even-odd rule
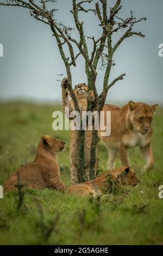
[[[61,107],[32,103],[1,103],[0,185],[22,164],[34,159],[44,134],[66,142],[59,153],[61,179],[70,185],[69,132],[52,130],[52,113]],[[163,109],[155,114],[153,151],[155,169],[140,175],[143,160],[139,149],[130,151],[131,163],[140,178],[136,187],[96,199],[80,198],[57,191],[28,189],[17,209],[17,192],[0,199],[1,245],[160,245],[163,244]],[[106,168],[107,153],[98,145],[99,171]],[[116,162],[120,166],[120,161]]]

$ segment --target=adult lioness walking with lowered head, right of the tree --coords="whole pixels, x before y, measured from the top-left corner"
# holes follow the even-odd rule
[[[111,111],[111,135],[99,136],[108,149],[108,169],[114,166],[116,157],[120,154],[122,164],[130,166],[128,148],[140,147],[146,165],[142,172],[154,167],[154,157],[151,147],[152,119],[158,104],[149,106],[142,102],[129,103],[122,108],[115,105],[105,105],[103,111]],[[106,124],[105,124],[106,125]]]

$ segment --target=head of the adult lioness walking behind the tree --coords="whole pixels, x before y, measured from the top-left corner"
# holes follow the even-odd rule
[[[130,121],[133,124],[134,130],[145,135],[151,130],[153,114],[158,107],[158,104],[149,106],[142,102],[129,101]]]

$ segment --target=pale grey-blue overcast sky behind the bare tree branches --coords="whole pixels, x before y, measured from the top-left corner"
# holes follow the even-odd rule
[[[116,1],[108,2],[112,5]],[[74,27],[71,3],[72,0],[58,0],[57,17]],[[122,0],[118,15],[128,17],[130,10],[137,18],[147,17],[146,22],[137,24],[134,29],[146,34],[146,38],[132,36],[118,48],[110,81],[122,73],[126,73],[126,77],[109,90],[107,102],[163,102],[163,57],[158,56],[158,46],[163,44],[163,1]],[[97,38],[100,32],[97,17],[90,13],[80,18],[84,21],[85,34]],[[118,36],[121,34],[115,35],[113,41]],[[30,17],[26,9],[0,7],[0,44],[4,47],[4,57],[0,57],[0,99],[61,101],[57,74],[66,76],[65,66],[47,25]],[[104,74],[98,73],[100,93]],[[74,85],[86,82],[82,57],[77,61],[77,68],[72,69],[72,75]]]

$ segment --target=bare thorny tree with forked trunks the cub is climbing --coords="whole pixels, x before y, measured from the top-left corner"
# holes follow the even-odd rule
[[[118,13],[122,8],[121,0],[115,0],[113,7],[108,6],[107,0],[71,0],[72,10],[71,13],[74,19],[74,26],[78,31],[78,40],[73,38],[74,28],[66,26],[64,22],[58,22],[55,18],[55,14],[58,9],[55,9],[55,0],[5,0],[0,5],[8,7],[22,7],[27,8],[30,15],[36,20],[39,20],[48,25],[53,33],[54,38],[57,40],[58,48],[61,54],[61,58],[64,61],[67,78],[68,78],[68,90],[70,91],[72,100],[76,111],[80,112],[78,101],[74,95],[72,88],[72,75],[71,66],[76,66],[76,60],[81,54],[85,60],[85,73],[87,76],[88,91],[93,90],[96,99],[96,110],[98,113],[102,111],[106,96],[109,88],[111,88],[118,80],[122,80],[126,74],[121,74],[116,77],[109,84],[109,76],[112,65],[115,65],[113,56],[114,52],[121,45],[124,39],[133,35],[145,37],[141,32],[134,32],[133,27],[135,23],[138,23],[146,18],[136,19],[131,11],[130,17],[122,19],[118,17]],[[93,3],[95,3],[93,8]],[[87,8],[88,7],[88,8]],[[79,13],[85,12],[87,15],[92,13],[97,16],[99,27],[101,28],[101,36],[95,38],[94,36],[85,36],[83,21],[79,20]],[[112,36],[118,31],[123,31],[123,35],[117,40],[115,45],[112,45]],[[92,52],[89,54],[87,40],[92,40]],[[65,54],[65,46],[68,47],[69,56]],[[74,48],[78,48],[77,54],[74,53]],[[97,93],[96,78],[98,65],[105,71],[103,79],[103,90],[100,95]],[[95,106],[94,106],[95,107]],[[92,111],[93,105],[88,100],[87,110]],[[82,127],[82,120],[80,126]],[[98,140],[98,131],[93,126],[92,131],[92,144],[91,144],[91,162],[90,162],[90,177],[95,178],[95,163],[96,163],[96,146]],[[79,149],[78,149],[78,179],[83,181],[84,176],[84,131],[80,129],[78,132]]]

